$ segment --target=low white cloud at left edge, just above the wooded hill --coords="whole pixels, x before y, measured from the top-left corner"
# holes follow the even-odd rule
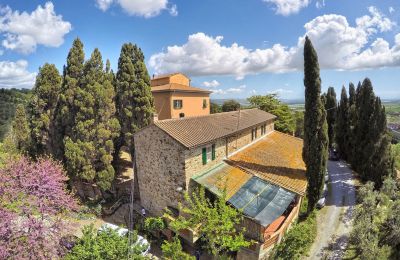
[[[0,88],[32,88],[36,74],[30,73],[27,67],[25,60],[0,61]]]

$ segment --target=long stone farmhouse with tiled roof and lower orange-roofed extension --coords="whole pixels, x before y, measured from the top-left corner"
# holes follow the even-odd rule
[[[207,100],[208,101],[208,100]],[[301,139],[274,130],[259,109],[158,120],[135,134],[136,186],[151,215],[176,214],[185,191],[203,185],[244,214],[245,236],[256,241],[238,259],[260,259],[297,218],[307,180]],[[223,180],[224,184],[221,184]],[[193,230],[179,234],[188,244]]]

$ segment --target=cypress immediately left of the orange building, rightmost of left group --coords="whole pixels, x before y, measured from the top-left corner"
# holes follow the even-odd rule
[[[143,53],[136,45],[126,43],[121,48],[115,89],[121,133],[115,140],[114,160],[124,145],[133,157],[133,135],[150,124],[154,111],[150,76],[144,64]]]

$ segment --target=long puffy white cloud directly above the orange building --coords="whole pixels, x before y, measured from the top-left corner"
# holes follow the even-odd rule
[[[252,72],[280,70],[290,58],[280,44],[252,51],[237,43],[224,46],[222,39],[222,36],[192,34],[182,46],[169,46],[166,52],[152,55],[149,64],[160,74],[182,71],[191,76],[235,75],[241,78]]]

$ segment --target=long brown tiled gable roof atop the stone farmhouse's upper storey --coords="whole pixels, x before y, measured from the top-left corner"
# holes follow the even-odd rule
[[[240,112],[160,120],[154,124],[185,147],[192,148],[275,118],[259,109],[245,109]]]

